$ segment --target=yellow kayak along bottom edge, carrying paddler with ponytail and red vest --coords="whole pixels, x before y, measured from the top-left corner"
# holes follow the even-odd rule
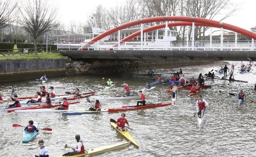
[[[59,157],[87,157],[87,156],[96,155],[99,153],[105,153],[110,150],[120,149],[120,148],[127,147],[130,145],[131,145],[131,142],[119,142],[117,144],[111,144],[111,145],[107,145],[107,146],[101,146],[101,147],[97,147],[97,148],[87,149],[87,150],[85,150],[86,151],[85,154],[78,154],[78,155],[71,155],[71,156],[62,155]]]

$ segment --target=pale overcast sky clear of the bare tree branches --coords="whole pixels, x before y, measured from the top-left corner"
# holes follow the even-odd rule
[[[88,15],[95,10],[96,6],[101,4],[103,7],[114,7],[121,5],[126,0],[56,0],[59,6],[60,21],[64,24],[69,24],[71,21],[85,23]],[[229,17],[223,22],[233,24],[237,27],[250,30],[256,26],[256,0],[231,0],[234,5],[238,5],[232,17]],[[225,11],[224,11],[225,12]],[[228,10],[226,12],[229,12]],[[223,15],[222,15],[223,16]],[[219,18],[220,19],[220,18]],[[216,17],[213,20],[219,20]]]

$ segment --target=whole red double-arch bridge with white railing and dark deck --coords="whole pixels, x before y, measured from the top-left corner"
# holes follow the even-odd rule
[[[165,22],[152,27],[144,28],[143,25],[150,22]],[[128,34],[121,35],[121,30],[128,27],[140,25],[140,30]],[[168,29],[174,26],[186,26],[186,41],[169,41]],[[194,41],[195,26],[210,27],[209,41]],[[189,40],[189,28],[191,29],[191,37]],[[212,27],[221,29],[221,37],[219,41],[212,40]],[[165,29],[163,40],[159,42],[146,40],[148,32],[154,31],[157,34],[158,29]],[[234,41],[223,40],[223,30],[235,32]],[[117,33],[117,41],[101,41],[102,39]],[[238,41],[238,33],[250,38],[248,41]],[[140,41],[129,41],[138,37]],[[123,37],[123,38],[122,38]],[[153,33],[152,33],[153,37]],[[158,37],[156,36],[155,39]],[[138,38],[137,38],[138,39]],[[146,59],[146,58],[187,58],[187,59],[213,59],[213,60],[255,60],[256,52],[254,51],[254,39],[256,33],[245,29],[204,18],[187,17],[187,16],[159,16],[134,20],[119,25],[108,31],[101,33],[89,42],[75,45],[69,43],[67,45],[57,44],[58,48],[78,48],[78,51],[64,51],[63,55],[72,58],[111,58],[111,59]]]

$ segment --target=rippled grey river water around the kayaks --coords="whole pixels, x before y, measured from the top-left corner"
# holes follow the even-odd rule
[[[196,113],[196,97],[187,97],[189,92],[184,89],[179,91],[176,104],[154,109],[128,111],[126,118],[134,139],[139,144],[139,149],[134,146],[97,155],[98,157],[213,157],[213,156],[256,156],[256,104],[245,101],[242,106],[237,106],[238,98],[228,93],[237,93],[243,89],[247,98],[256,101],[256,93],[253,90],[256,82],[256,68],[253,73],[239,74],[240,62],[233,62],[235,66],[235,79],[246,80],[249,83],[228,82],[224,80],[207,80],[206,84],[212,88],[204,89],[201,95],[208,101],[210,107],[206,110],[205,122],[201,127],[194,117]],[[245,62],[246,64],[247,62]],[[182,67],[186,78],[197,77],[199,73],[208,73],[211,69],[218,69],[221,62],[203,66]],[[223,66],[223,63],[222,63]],[[229,66],[230,67],[230,66]],[[155,72],[171,73],[172,69],[155,69]],[[177,70],[175,70],[177,71]],[[102,80],[105,77],[105,80]],[[58,77],[45,84],[46,88],[54,86],[57,93],[73,91],[78,87],[82,91],[99,91],[111,78],[117,84],[127,81],[133,93],[141,89],[150,77],[127,75],[87,75]],[[11,86],[16,88],[16,94],[20,96],[34,95],[39,91],[39,84],[34,81],[15,82],[1,84],[0,91],[3,95],[10,95]],[[147,102],[170,102],[171,99],[165,93],[167,86],[156,85],[155,90],[146,93],[157,95],[158,98],[147,99]],[[112,91],[101,95],[114,95],[119,86]],[[121,94],[121,90],[118,92]],[[80,104],[71,105],[71,108],[90,107],[85,100],[79,100]],[[103,108],[120,107],[122,105],[135,105],[137,100],[128,101],[101,101]],[[80,134],[85,148],[125,142],[126,139],[117,133],[109,123],[110,118],[117,119],[121,113],[102,113],[95,115],[79,115],[62,117],[60,113],[5,113],[0,112],[0,156],[1,157],[33,157],[38,154],[39,139],[45,141],[50,157],[57,157],[71,151],[64,148],[65,144],[76,144],[75,135]],[[53,131],[41,130],[37,137],[28,144],[22,144],[23,128],[13,128],[12,124],[27,125],[32,119],[39,122],[41,128],[52,128]]]

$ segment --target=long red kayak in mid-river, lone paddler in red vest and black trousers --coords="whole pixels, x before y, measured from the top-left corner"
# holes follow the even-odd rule
[[[155,108],[155,107],[162,107],[162,106],[168,106],[171,105],[171,103],[159,103],[159,104],[146,104],[145,106],[139,105],[139,106],[122,106],[120,108],[110,108],[108,109],[109,113],[114,112],[123,112],[123,111],[129,111],[129,110],[140,110],[140,109],[146,109],[146,108]]]

